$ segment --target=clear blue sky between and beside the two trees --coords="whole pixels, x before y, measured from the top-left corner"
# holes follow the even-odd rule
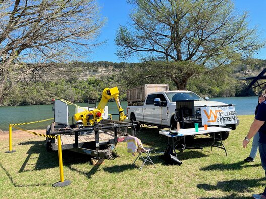
[[[251,27],[257,26],[262,39],[266,39],[266,1],[265,0],[233,0],[235,9],[240,12],[247,11]],[[107,41],[106,44],[92,49],[93,53],[86,61],[112,61],[122,62],[115,55],[115,37],[119,25],[125,25],[128,21],[130,5],[126,0],[98,0],[101,7],[101,15],[107,18],[107,23],[101,31],[99,41]],[[266,59],[266,49],[260,50],[253,58]],[[125,60],[124,60],[125,61]],[[138,62],[137,59],[129,59],[126,62]]]

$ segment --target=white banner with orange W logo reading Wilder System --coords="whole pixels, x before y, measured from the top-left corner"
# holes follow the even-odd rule
[[[234,106],[227,107],[201,107],[202,125],[208,124],[208,126],[219,125],[224,126],[226,124],[236,124],[236,111]]]

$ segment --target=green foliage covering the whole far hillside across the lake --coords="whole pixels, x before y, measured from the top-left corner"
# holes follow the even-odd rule
[[[216,68],[211,71],[204,67],[189,62],[143,62],[143,63],[104,63],[101,66],[97,62],[84,63],[72,62],[65,67],[71,74],[68,78],[57,78],[56,80],[46,79],[46,81],[30,81],[29,83],[20,81],[12,86],[1,105],[34,105],[50,104],[51,99],[60,99],[71,101],[73,103],[87,102],[87,99],[100,100],[104,88],[118,86],[120,99],[126,100],[126,90],[143,84],[169,84],[170,90],[176,90],[177,83],[185,78],[189,78],[186,85],[200,96],[208,97],[231,97],[242,95],[242,90],[249,84],[246,81],[236,81],[236,73],[241,72],[243,65],[226,65],[222,68]],[[244,62],[245,70],[257,71],[263,69],[263,60],[247,60]],[[248,65],[251,64],[252,65]],[[257,65],[255,63],[258,63]],[[111,72],[108,75],[100,77],[89,76],[87,79],[79,79],[79,73],[83,71],[99,70],[100,67],[113,67],[119,69],[119,72]],[[182,69],[181,69],[182,68]],[[76,71],[76,73],[75,73]],[[174,75],[173,75],[174,74]],[[177,74],[177,76],[175,76]],[[240,73],[241,74],[241,73]],[[175,81],[173,81],[175,80]],[[11,82],[10,82],[11,84]],[[262,89],[256,87],[255,92],[260,93]],[[252,90],[251,90],[252,91]],[[255,95],[254,91],[249,92]]]

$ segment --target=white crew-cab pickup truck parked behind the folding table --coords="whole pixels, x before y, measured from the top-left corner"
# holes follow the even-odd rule
[[[182,118],[180,112],[176,114],[176,102],[179,101],[193,101],[193,113],[189,112],[190,110],[184,111]],[[207,97],[203,99],[191,91],[160,91],[149,93],[141,106],[128,106],[127,114],[131,121],[139,121],[141,124],[174,129],[179,121],[181,128],[193,128],[194,123],[199,123],[199,127],[202,127],[200,107],[204,106],[226,107],[231,104],[208,101]],[[224,127],[235,130],[238,123],[237,119],[237,124],[228,124]],[[223,140],[227,137],[228,134],[222,135]]]

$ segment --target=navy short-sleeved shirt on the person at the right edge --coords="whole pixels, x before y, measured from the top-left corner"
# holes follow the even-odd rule
[[[265,121],[265,123],[259,128],[259,142],[266,143],[266,101],[258,106],[258,112],[255,116],[256,120]]]

